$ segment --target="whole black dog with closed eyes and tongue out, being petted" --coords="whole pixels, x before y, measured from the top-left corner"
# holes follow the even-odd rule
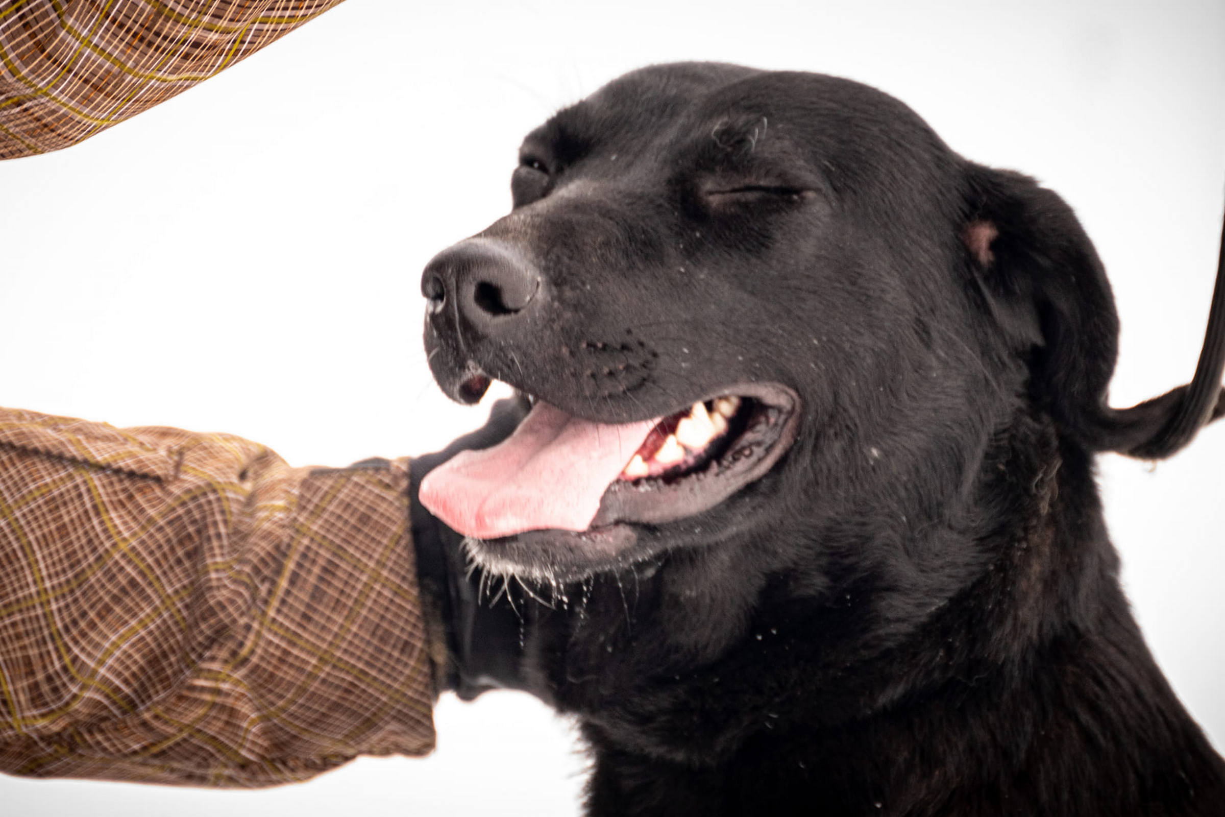
[[[871,88],[696,64],[560,111],[511,186],[425,342],[534,408],[420,496],[506,579],[590,813],[1225,813],[1093,475],[1167,453],[1181,392],[1107,408],[1055,194]]]

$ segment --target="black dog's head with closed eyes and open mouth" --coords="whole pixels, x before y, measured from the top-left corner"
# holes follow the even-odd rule
[[[862,85],[635,71],[529,134],[511,189],[423,276],[442,388],[534,404],[421,488],[491,570],[702,551],[762,577],[807,560],[828,592],[838,543],[862,562],[870,540],[941,598],[990,555],[914,543],[973,524],[1009,429],[1129,451],[1164,421],[1106,407],[1117,317],[1067,205]]]

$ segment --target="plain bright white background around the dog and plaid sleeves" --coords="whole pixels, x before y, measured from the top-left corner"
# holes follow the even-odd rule
[[[1123,321],[1116,405],[1189,380],[1225,181],[1225,2],[350,0],[77,147],[0,164],[0,404],[229,431],[294,464],[419,453],[479,424],[420,350],[421,267],[510,208],[523,134],[644,64],[837,73],[1077,209]],[[1225,746],[1225,423],[1101,461],[1136,614]],[[425,761],[261,793],[0,778],[4,815],[570,815],[572,732],[445,699]]]

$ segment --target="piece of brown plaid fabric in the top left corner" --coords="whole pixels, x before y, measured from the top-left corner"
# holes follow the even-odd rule
[[[93,136],[341,0],[0,0],[0,159]]]

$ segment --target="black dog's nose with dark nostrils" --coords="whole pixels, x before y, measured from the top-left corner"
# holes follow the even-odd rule
[[[494,239],[467,239],[434,256],[421,274],[431,315],[448,299],[477,328],[489,331],[522,312],[540,289],[540,273],[517,249]]]

